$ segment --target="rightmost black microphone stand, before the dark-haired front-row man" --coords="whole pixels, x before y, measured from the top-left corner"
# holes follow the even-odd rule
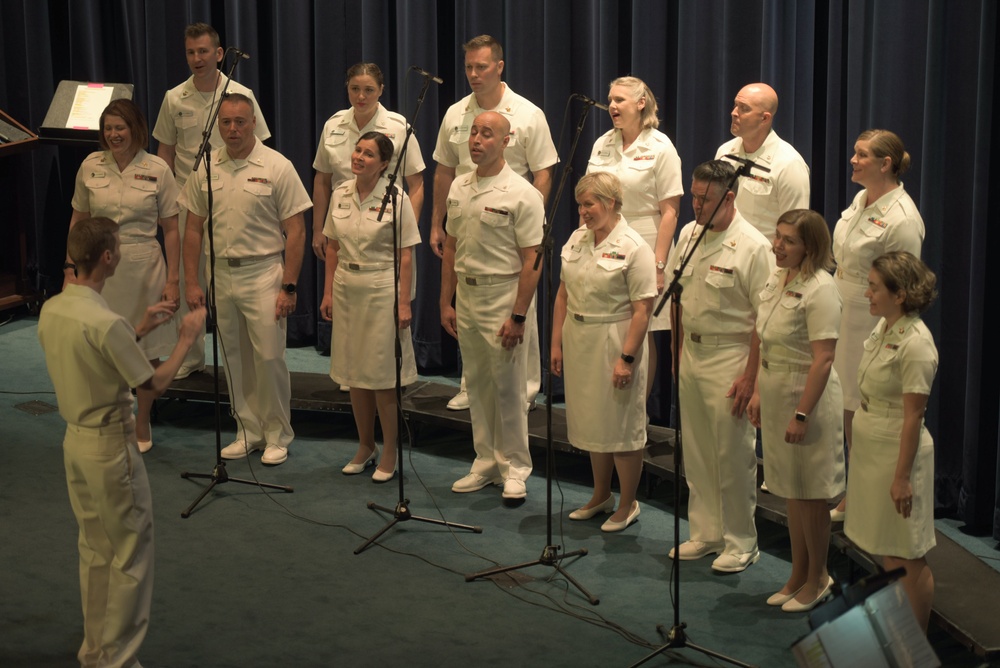
[[[729,158],[732,156],[726,156],[726,157]],[[750,176],[751,166],[756,167],[756,165],[754,165],[754,163],[750,162],[749,160],[744,161],[742,158],[735,158],[735,159],[738,162],[740,162],[741,165],[737,168],[736,173],[733,174],[733,178],[730,179],[728,184],[726,184],[727,193],[730,190],[732,190],[733,185],[735,185],[736,181],[739,180],[740,176]],[[715,183],[715,181],[709,183],[708,186],[709,189],[711,189],[712,183]],[[691,246],[691,249],[690,251],[687,251],[687,255],[683,256],[680,266],[674,270],[674,277],[673,279],[671,279],[670,285],[668,285],[667,288],[663,291],[663,295],[662,297],[660,297],[660,302],[659,304],[656,305],[656,308],[653,311],[653,315],[660,314],[660,311],[663,310],[663,306],[666,303],[668,297],[670,298],[672,312],[675,314],[678,313],[677,309],[681,305],[681,292],[683,292],[684,290],[684,288],[680,284],[680,278],[684,274],[684,269],[691,262],[691,258],[694,256],[694,253],[698,249],[698,246],[700,246],[702,241],[704,240],[705,234],[708,232],[709,228],[712,227],[712,221],[715,220],[715,215],[719,212],[719,208],[722,206],[722,202],[724,201],[724,199],[725,198],[720,199],[719,203],[715,205],[715,209],[712,211],[712,215],[708,217],[708,222],[702,226],[701,232],[695,239],[694,244],[691,245],[689,242],[689,246]],[[678,318],[675,318],[675,322],[680,324],[680,320]],[[674,410],[674,415],[677,416],[677,426],[674,430],[674,558],[673,558],[674,563],[673,563],[673,568],[671,569],[671,579],[670,579],[670,587],[671,587],[670,598],[671,601],[673,602],[674,624],[673,626],[670,627],[670,630],[667,631],[665,634],[667,637],[667,643],[657,648],[651,654],[642,658],[640,661],[637,661],[636,663],[632,664],[632,666],[641,666],[642,664],[646,663],[656,655],[661,654],[668,649],[688,648],[688,649],[693,649],[696,652],[701,652],[702,654],[705,654],[707,656],[711,656],[716,659],[721,659],[723,661],[733,664],[734,666],[745,666],[749,668],[750,664],[743,663],[731,657],[725,656],[724,654],[720,654],[719,652],[716,652],[714,650],[710,650],[706,647],[702,647],[700,645],[696,645],[692,642],[689,642],[687,639],[687,632],[685,631],[685,629],[687,628],[687,624],[681,621],[680,508],[681,508],[681,466],[683,464],[684,458],[683,458],[683,448],[682,448],[683,432],[681,429],[682,424],[681,424],[681,408],[680,408],[680,387],[681,387],[680,337],[677,336],[671,337],[671,352],[673,354],[673,359],[675,360],[675,366],[677,369],[677,391],[674,392],[674,396],[671,401]],[[663,624],[657,624],[656,630],[662,636],[664,635],[666,629],[663,626]]]

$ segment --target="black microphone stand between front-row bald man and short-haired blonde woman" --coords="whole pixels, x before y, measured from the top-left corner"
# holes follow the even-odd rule
[[[572,95],[570,100],[574,97],[579,98],[581,96]],[[585,101],[588,101],[585,98]],[[545,309],[543,311],[542,317],[542,331],[539,335],[541,341],[548,341],[551,339],[551,320],[552,320],[552,310],[555,304],[555,291],[553,289],[553,255],[554,255],[554,244],[553,244],[553,231],[552,225],[555,220],[556,211],[559,208],[559,201],[562,199],[563,190],[566,187],[566,183],[569,181],[570,173],[573,171],[573,156],[576,155],[577,145],[580,143],[580,135],[583,134],[584,125],[587,122],[587,117],[590,115],[590,109],[594,106],[593,101],[585,104],[583,111],[580,112],[580,120],[576,125],[576,130],[573,135],[572,146],[570,147],[569,158],[563,163],[562,176],[559,179],[559,187],[556,189],[556,196],[552,200],[552,206],[549,214],[545,221],[544,235],[542,236],[542,243],[535,256],[535,271],[538,271],[539,263],[542,261],[542,255],[545,255],[545,266],[543,271],[545,271],[545,289],[546,297]],[[567,100],[567,112],[569,109],[570,101]],[[548,336],[546,336],[548,334]],[[548,356],[544,356],[547,358]],[[560,575],[562,575],[568,582],[570,582],[574,587],[580,590],[591,605],[597,605],[600,603],[600,599],[587,591],[583,585],[576,581],[560,564],[563,559],[568,559],[569,557],[583,557],[587,555],[587,548],[581,548],[579,550],[574,550],[572,552],[566,552],[564,554],[559,554],[562,549],[561,545],[556,545],[552,539],[552,480],[555,478],[555,448],[553,446],[552,439],[552,370],[548,368],[547,364],[542,365],[546,378],[548,379],[547,386],[548,392],[546,392],[545,397],[545,547],[542,548],[542,554],[538,559],[534,561],[528,561],[523,564],[517,564],[516,566],[500,566],[497,568],[490,568],[485,571],[480,571],[478,573],[472,573],[465,576],[466,582],[472,582],[479,578],[489,577],[497,573],[506,573],[508,571],[521,570],[522,568],[528,568],[529,566],[550,566],[554,568]]]

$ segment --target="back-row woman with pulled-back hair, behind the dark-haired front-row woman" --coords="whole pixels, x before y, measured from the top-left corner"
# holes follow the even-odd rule
[[[385,90],[382,70],[375,63],[357,63],[347,70],[345,81],[349,109],[338,111],[323,126],[313,169],[313,237],[312,247],[316,257],[326,259],[326,236],[323,225],[334,188],[353,178],[351,161],[358,137],[366,132],[380,132],[393,144],[389,170],[396,167],[403,139],[406,137],[406,118],[389,111],[379,103]],[[406,149],[406,161],[401,176],[406,181],[413,215],[420,220],[424,204],[424,159],[416,136],[411,136]]]

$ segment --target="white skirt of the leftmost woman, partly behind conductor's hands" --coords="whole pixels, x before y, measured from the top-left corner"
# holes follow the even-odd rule
[[[160,302],[163,286],[167,283],[167,264],[156,239],[123,243],[121,252],[121,262],[115,275],[104,284],[101,296],[112,311],[135,327],[142,322],[146,309]],[[177,329],[169,324],[157,327],[139,341],[139,347],[150,360],[167,357],[175,345]]]

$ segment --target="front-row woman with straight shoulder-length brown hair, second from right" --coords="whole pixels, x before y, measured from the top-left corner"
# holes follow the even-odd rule
[[[841,301],[820,214],[782,214],[772,251],[778,268],[760,295],[760,371],[747,412],[761,430],[769,490],[788,507],[792,572],[767,604],[804,612],[833,585],[827,503],[844,491],[844,404],[833,370]]]

